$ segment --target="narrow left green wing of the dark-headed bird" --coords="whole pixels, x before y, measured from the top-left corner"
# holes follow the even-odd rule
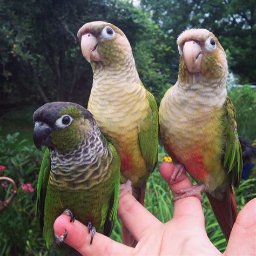
[[[51,160],[50,151],[46,149],[44,152],[44,157],[40,167],[38,180],[37,180],[37,214],[39,218],[40,228],[43,232],[44,227],[44,201],[46,188],[48,185],[48,179],[51,171]]]

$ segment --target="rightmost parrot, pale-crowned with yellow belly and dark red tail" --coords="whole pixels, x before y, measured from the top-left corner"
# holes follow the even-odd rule
[[[176,161],[170,182],[187,171],[197,186],[180,190],[174,201],[204,191],[226,240],[237,217],[233,187],[241,179],[242,158],[235,108],[227,96],[228,65],[217,37],[190,29],[177,39],[178,80],[159,106],[160,139]]]

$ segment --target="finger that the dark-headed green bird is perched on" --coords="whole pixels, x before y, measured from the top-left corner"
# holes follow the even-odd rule
[[[133,248],[97,232],[90,245],[91,233],[89,234],[88,228],[78,220],[70,223],[70,217],[67,215],[60,215],[55,220],[53,228],[57,235],[63,235],[65,230],[68,231],[65,244],[75,248],[82,255],[123,255],[132,254],[133,251]]]

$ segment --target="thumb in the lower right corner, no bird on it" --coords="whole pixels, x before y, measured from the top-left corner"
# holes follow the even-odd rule
[[[239,212],[228,240],[225,255],[255,255],[256,199]]]

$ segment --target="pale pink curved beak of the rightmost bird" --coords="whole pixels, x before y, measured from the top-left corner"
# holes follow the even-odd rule
[[[201,72],[203,54],[200,45],[195,41],[188,41],[183,46],[184,62],[191,73]]]

